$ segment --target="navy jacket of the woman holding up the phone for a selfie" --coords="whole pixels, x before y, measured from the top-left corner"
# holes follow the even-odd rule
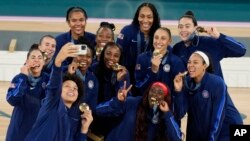
[[[85,141],[80,133],[81,117],[77,104],[70,108],[61,99],[62,68],[53,66],[42,107],[26,141]]]

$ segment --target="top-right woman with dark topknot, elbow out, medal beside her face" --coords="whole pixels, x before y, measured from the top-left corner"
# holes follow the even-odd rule
[[[220,33],[215,27],[198,27],[197,20],[191,11],[188,11],[179,20],[178,30],[182,41],[173,46],[173,53],[187,64],[190,55],[199,50],[211,55],[214,65],[214,74],[223,78],[220,61],[227,57],[241,57],[246,53],[246,47],[232,37]],[[209,36],[199,36],[197,30]]]

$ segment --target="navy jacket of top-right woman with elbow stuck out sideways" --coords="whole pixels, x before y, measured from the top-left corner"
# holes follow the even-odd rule
[[[179,56],[185,65],[187,65],[191,54],[197,50],[209,53],[214,66],[214,74],[222,78],[220,61],[227,57],[241,57],[246,53],[246,47],[243,44],[224,34],[220,34],[218,39],[195,36],[193,43],[188,47],[185,46],[183,41],[173,46],[173,53]]]

